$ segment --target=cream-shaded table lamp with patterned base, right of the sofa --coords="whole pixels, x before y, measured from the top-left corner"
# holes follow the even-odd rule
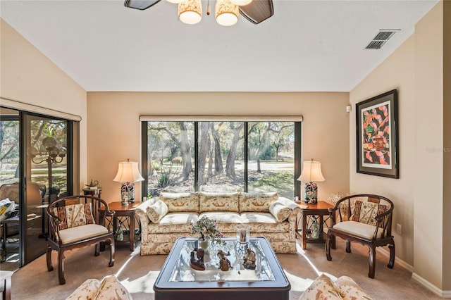
[[[302,173],[297,180],[305,182],[304,201],[309,204],[318,203],[318,186],[314,182],[324,181],[319,161],[304,161]]]

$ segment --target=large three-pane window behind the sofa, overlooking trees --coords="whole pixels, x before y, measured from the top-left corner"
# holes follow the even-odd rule
[[[299,122],[145,121],[142,128],[144,195],[279,192],[292,199],[296,194]]]

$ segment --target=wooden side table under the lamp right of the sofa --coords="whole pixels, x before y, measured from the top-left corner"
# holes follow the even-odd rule
[[[333,208],[333,205],[328,204],[326,201],[318,201],[317,204],[307,204],[302,201],[296,201],[297,206],[301,208],[302,212],[302,227],[299,230],[298,225],[296,226],[296,233],[300,235],[299,237],[302,239],[302,249],[307,248],[307,243],[321,244],[326,242],[326,238],[324,237],[323,227],[327,225],[327,220],[329,218],[324,218],[324,215],[329,215],[328,208]],[[332,217],[333,218],[333,217]],[[313,220],[317,220],[319,225],[319,238],[314,239],[313,237],[309,237],[307,232],[309,231],[309,227],[313,223]]]

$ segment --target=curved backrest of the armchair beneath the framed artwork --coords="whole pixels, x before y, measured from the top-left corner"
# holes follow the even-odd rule
[[[375,194],[355,194],[338,200],[329,208],[336,223],[352,220],[375,225],[383,229],[383,236],[392,234],[392,216],[395,208],[393,202]]]

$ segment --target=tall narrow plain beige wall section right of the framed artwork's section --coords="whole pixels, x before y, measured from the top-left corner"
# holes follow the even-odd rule
[[[443,289],[443,2],[415,32],[414,274]]]

